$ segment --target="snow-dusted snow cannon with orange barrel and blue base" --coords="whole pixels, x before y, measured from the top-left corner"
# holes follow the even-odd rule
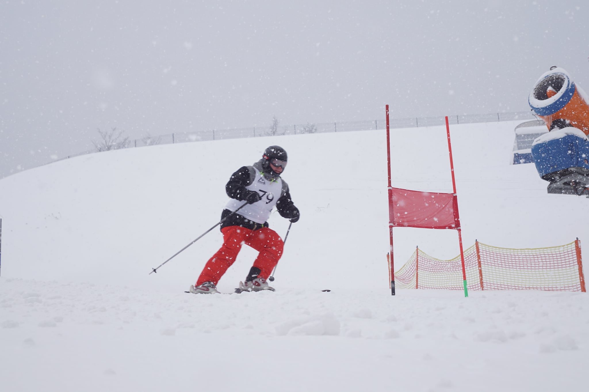
[[[540,76],[528,102],[550,132],[532,143],[548,193],[589,197],[589,99],[562,68]]]

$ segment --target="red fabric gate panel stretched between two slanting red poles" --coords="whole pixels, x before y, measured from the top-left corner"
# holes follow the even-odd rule
[[[458,205],[452,193],[392,189],[389,223],[423,229],[459,229]]]

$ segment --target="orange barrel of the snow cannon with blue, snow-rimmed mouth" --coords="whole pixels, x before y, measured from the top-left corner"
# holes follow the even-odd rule
[[[528,102],[548,130],[572,126],[589,135],[589,98],[564,69],[552,67],[540,76]]]

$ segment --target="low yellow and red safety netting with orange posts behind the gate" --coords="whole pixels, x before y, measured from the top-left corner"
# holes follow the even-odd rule
[[[464,251],[469,290],[551,290],[584,292],[578,241],[536,249],[476,243]],[[395,273],[400,289],[463,290],[460,256],[431,257],[421,249]]]

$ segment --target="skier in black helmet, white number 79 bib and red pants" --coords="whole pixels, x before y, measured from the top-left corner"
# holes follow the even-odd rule
[[[292,223],[300,216],[290,198],[289,186],[280,177],[286,162],[286,151],[279,146],[270,146],[253,166],[242,166],[231,175],[225,186],[231,199],[221,213],[221,219],[244,207],[221,223],[223,246],[205,264],[196,284],[190,286],[191,293],[217,293],[216,284],[235,261],[241,244],[253,247],[259,254],[245,282],[239,282],[239,288],[249,292],[274,290],[266,279],[282,256],[284,242],[268,227],[266,220],[274,206],[280,216]]]

